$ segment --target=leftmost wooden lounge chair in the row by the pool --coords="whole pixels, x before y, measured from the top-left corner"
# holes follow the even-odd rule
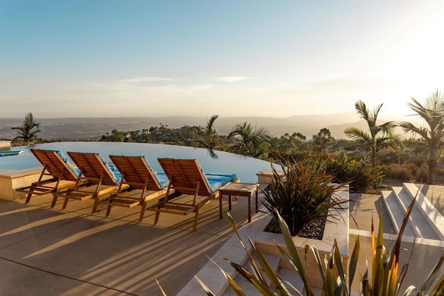
[[[37,182],[30,186],[15,189],[26,193],[27,204],[33,195],[54,193],[74,186],[78,172],[69,163],[67,157],[58,150],[31,149],[31,152],[42,164],[43,169]],[[81,183],[85,186],[85,183]],[[80,185],[80,184],[79,184]]]

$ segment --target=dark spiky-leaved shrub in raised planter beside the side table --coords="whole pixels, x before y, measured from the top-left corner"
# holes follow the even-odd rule
[[[325,219],[328,209],[342,209],[334,191],[346,183],[332,184],[334,176],[325,171],[321,159],[287,161],[281,164],[283,175],[273,167],[273,177],[268,190],[264,190],[264,206],[271,214],[275,209],[285,220],[292,234],[305,223]]]

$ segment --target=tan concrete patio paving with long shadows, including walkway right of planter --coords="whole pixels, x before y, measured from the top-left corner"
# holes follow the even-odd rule
[[[442,186],[427,190],[434,201],[443,200]],[[360,234],[360,279],[370,256],[371,217],[379,223],[380,196],[359,196],[350,195],[356,200],[350,214],[357,221],[350,220],[350,252]],[[103,218],[104,207],[89,215],[92,201],[71,201],[60,211],[61,202],[49,209],[51,198],[34,197],[30,204],[0,200],[0,295],[162,295],[156,280],[167,295],[176,295],[232,236],[228,218],[219,220],[218,200],[203,207],[191,232],[192,215],[161,214],[154,226],[153,212],[147,211],[137,224],[138,208],[115,207]],[[239,227],[246,224],[246,209],[246,198],[233,201],[231,214]],[[383,219],[389,238],[393,226],[386,214]],[[404,241],[407,249],[411,245]],[[443,250],[442,241],[417,242],[404,286],[420,284]],[[358,286],[355,280],[353,288]]]

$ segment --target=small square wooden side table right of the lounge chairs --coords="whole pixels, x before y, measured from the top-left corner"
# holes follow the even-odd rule
[[[229,182],[219,189],[219,218],[222,219],[222,197],[228,195],[228,210],[231,210],[231,195],[246,196],[248,198],[248,223],[251,222],[251,199],[255,194],[256,213],[259,211],[257,184]]]

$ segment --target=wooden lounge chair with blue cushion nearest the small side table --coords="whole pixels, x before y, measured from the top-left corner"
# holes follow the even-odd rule
[[[234,174],[204,175],[196,159],[157,160],[167,174],[169,186],[165,196],[157,204],[148,207],[148,210],[156,212],[154,224],[157,224],[161,212],[178,215],[194,212],[193,231],[196,230],[200,207],[218,197],[219,188],[236,178]],[[177,199],[180,195],[194,197],[191,202],[180,202]]]

